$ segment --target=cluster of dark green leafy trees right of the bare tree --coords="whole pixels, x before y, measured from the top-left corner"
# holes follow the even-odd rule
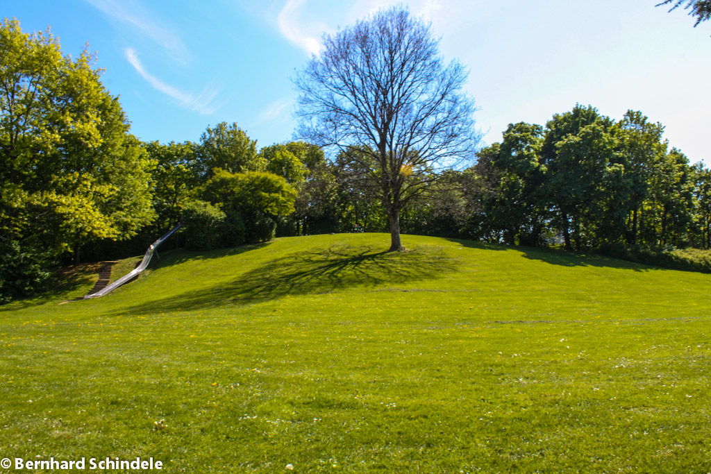
[[[667,151],[663,130],[641,112],[614,122],[579,104],[545,129],[509,125],[461,181],[465,235],[577,250],[708,247],[708,172]]]

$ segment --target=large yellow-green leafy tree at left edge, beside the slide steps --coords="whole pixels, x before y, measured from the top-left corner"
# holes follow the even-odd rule
[[[152,163],[93,62],[63,56],[49,31],[0,28],[0,228],[23,249],[77,260],[153,218]]]

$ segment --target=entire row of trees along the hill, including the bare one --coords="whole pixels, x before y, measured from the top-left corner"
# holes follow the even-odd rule
[[[197,142],[140,141],[95,58],[63,55],[49,31],[5,19],[0,53],[0,301],[59,265],[138,254],[181,221],[188,249],[367,231],[390,232],[397,250],[400,230],[711,247],[711,172],[641,112],[615,121],[578,104],[545,126],[510,124],[472,156],[466,72],[406,10],[327,37],[296,81],[306,140],[262,149],[226,122]]]

